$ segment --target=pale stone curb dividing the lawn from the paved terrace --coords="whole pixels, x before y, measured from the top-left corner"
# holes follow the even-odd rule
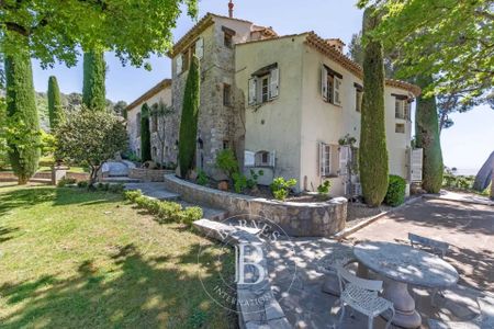
[[[192,225],[201,234],[222,242],[228,242],[231,246],[239,242],[260,242],[260,239],[257,236],[218,222],[203,218],[195,220]],[[225,236],[231,239],[225,240]],[[266,252],[263,252],[263,259],[259,264],[265,268],[265,271],[268,274],[268,261],[265,254]],[[262,296],[272,296],[271,284],[262,282],[255,286],[237,285],[237,300],[263,300],[263,303],[252,303],[250,305],[245,305],[243,303],[237,304],[239,328],[292,328],[278,300],[273,297],[267,298],[266,300]]]

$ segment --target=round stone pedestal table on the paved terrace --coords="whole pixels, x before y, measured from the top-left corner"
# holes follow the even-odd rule
[[[403,328],[422,324],[408,284],[440,290],[459,279],[454,268],[439,257],[405,245],[362,242],[353,247],[353,254],[366,268],[385,276],[383,297],[393,302],[393,324]]]

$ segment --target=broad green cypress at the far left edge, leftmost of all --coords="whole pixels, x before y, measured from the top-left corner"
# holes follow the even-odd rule
[[[27,183],[40,161],[40,117],[33,86],[31,57],[20,49],[5,56],[7,115],[16,129],[9,140],[9,159],[19,184]]]

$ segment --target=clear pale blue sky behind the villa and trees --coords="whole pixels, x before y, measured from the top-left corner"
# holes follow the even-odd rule
[[[202,0],[200,16],[206,12],[227,15],[227,0]],[[324,37],[339,37],[347,44],[351,35],[360,31],[362,12],[355,7],[356,1],[341,0],[244,0],[234,1],[234,15],[256,24],[272,26],[278,34],[315,31]],[[175,39],[180,38],[194,21],[186,14],[177,22]],[[164,78],[171,76],[170,60],[153,56],[151,71],[143,68],[122,67],[112,55],[106,54],[109,72],[106,76],[106,98],[112,101],[132,102]],[[34,84],[37,91],[46,91],[48,77],[55,75],[61,92],[82,90],[81,63],[68,69],[60,65],[43,70],[34,61]],[[478,169],[494,150],[494,111],[486,106],[453,116],[456,125],[445,131],[442,151],[446,166],[462,169]]]

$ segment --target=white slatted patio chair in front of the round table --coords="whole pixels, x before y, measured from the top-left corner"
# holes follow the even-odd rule
[[[369,317],[369,329],[372,329],[377,316],[390,310],[391,317],[386,322],[388,329],[394,318],[394,307],[393,303],[378,295],[382,290],[382,281],[357,277],[341,265],[338,266],[337,271],[341,290],[339,322],[341,324],[345,317],[345,306],[347,305]]]

